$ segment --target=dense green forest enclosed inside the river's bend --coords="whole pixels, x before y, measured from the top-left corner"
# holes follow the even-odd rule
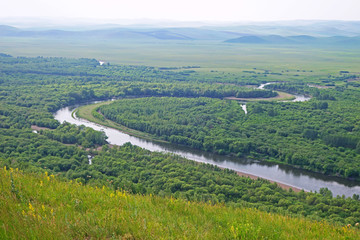
[[[211,98],[123,99],[98,110],[172,143],[359,179],[360,94],[345,89],[330,94],[338,100],[251,102],[248,114],[236,101]]]

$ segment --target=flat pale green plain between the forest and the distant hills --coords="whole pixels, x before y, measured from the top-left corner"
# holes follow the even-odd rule
[[[300,70],[297,73],[300,76],[335,74],[340,70],[356,72],[360,64],[360,50],[346,46],[266,46],[195,40],[137,42],[3,37],[0,52],[31,57],[88,57],[117,64],[162,67],[198,65],[201,68],[196,70],[203,72],[238,73],[254,68],[278,72]]]

